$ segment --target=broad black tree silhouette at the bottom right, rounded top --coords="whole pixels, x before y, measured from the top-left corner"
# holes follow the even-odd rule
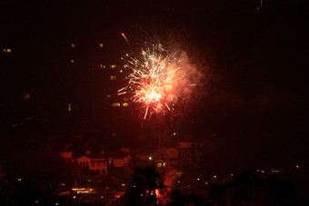
[[[254,172],[243,172],[234,181],[214,185],[210,199],[224,205],[295,205],[294,188],[276,177],[261,179]]]

